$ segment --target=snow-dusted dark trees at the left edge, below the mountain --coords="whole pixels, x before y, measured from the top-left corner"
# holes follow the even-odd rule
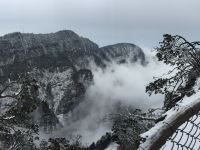
[[[8,81],[0,85],[0,149],[35,149],[34,134],[38,126],[30,113],[38,105],[38,86],[34,79],[22,78],[17,82]],[[3,105],[4,104],[4,105]]]

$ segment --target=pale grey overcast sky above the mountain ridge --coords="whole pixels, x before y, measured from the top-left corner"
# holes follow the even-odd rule
[[[100,46],[156,47],[163,33],[200,40],[200,0],[0,0],[0,35],[71,29]]]

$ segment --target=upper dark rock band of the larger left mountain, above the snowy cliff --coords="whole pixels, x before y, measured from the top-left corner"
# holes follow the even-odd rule
[[[74,67],[98,46],[73,31],[51,34],[12,33],[0,37],[0,77],[16,78],[33,68],[54,70]],[[11,72],[12,70],[12,72]]]

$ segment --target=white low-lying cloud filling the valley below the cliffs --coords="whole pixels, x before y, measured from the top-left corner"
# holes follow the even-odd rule
[[[163,95],[149,97],[145,87],[154,76],[160,76],[169,68],[147,58],[148,64],[110,64],[106,69],[93,69],[94,84],[86,92],[83,101],[73,112],[72,117],[64,123],[62,134],[80,134],[82,142],[90,144],[97,141],[105,132],[110,131],[111,124],[104,118],[115,111],[117,104],[132,106],[146,111],[161,107]]]

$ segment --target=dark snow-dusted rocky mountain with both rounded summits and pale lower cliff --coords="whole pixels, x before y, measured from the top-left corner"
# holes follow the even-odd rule
[[[99,67],[110,62],[144,64],[145,55],[138,46],[128,43],[99,48],[69,30],[50,34],[16,32],[0,37],[0,81],[24,75],[38,81],[39,98],[44,102],[38,110],[41,126],[48,124],[46,118],[59,124],[57,115],[68,114],[84,100],[93,81],[91,61]]]

